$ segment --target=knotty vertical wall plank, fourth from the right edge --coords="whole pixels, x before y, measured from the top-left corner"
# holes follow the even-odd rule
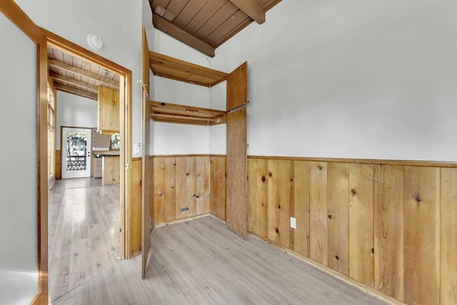
[[[349,164],[349,276],[373,287],[373,165]]]

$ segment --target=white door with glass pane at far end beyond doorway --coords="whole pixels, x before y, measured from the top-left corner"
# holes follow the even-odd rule
[[[91,176],[92,129],[62,127],[62,179]]]

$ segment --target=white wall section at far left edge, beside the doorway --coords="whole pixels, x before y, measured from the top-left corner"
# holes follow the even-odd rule
[[[0,304],[29,304],[38,291],[37,51],[1,13],[0,37]]]

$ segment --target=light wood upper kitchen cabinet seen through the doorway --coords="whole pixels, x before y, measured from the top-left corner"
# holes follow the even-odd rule
[[[119,133],[119,99],[119,91],[99,86],[97,129],[102,133]]]

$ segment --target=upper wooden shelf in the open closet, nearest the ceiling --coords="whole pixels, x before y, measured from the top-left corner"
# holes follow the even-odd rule
[[[149,51],[149,57],[154,75],[167,79],[211,87],[226,81],[229,75],[225,72],[191,64],[154,51]]]

